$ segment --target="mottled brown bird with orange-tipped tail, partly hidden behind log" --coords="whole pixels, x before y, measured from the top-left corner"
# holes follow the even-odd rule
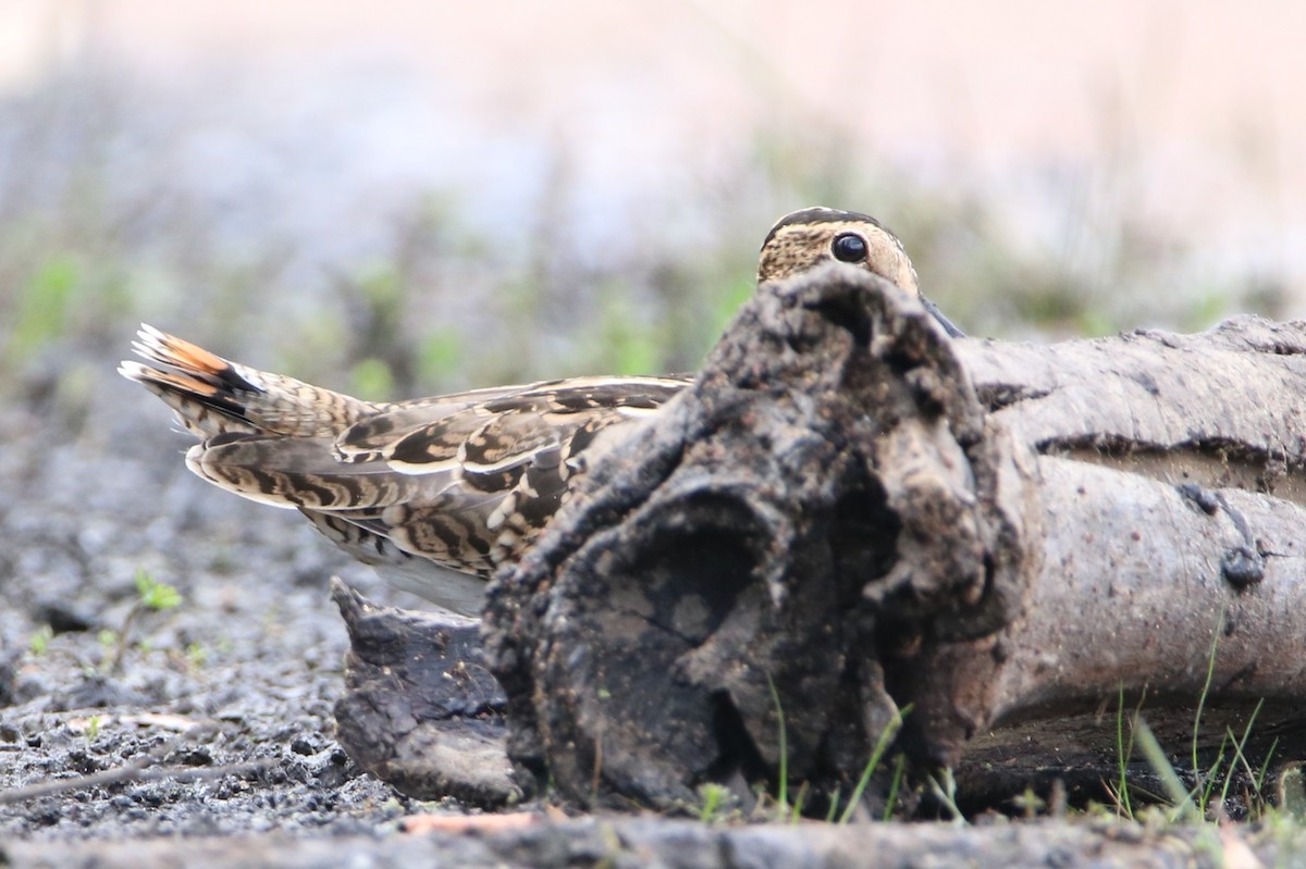
[[[767,235],[757,281],[825,262],[919,294],[902,243],[874,218],[810,207]],[[172,408],[200,442],[187,467],[253,501],[298,509],[384,579],[460,616],[539,538],[586,468],[692,382],[573,377],[370,402],[218,356],[142,324],[118,372]]]

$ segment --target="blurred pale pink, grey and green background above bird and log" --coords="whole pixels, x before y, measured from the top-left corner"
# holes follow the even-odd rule
[[[973,334],[1299,316],[1301,33],[1272,0],[0,0],[0,389],[135,414],[141,320],[370,398],[691,371],[812,204],[896,230]]]

